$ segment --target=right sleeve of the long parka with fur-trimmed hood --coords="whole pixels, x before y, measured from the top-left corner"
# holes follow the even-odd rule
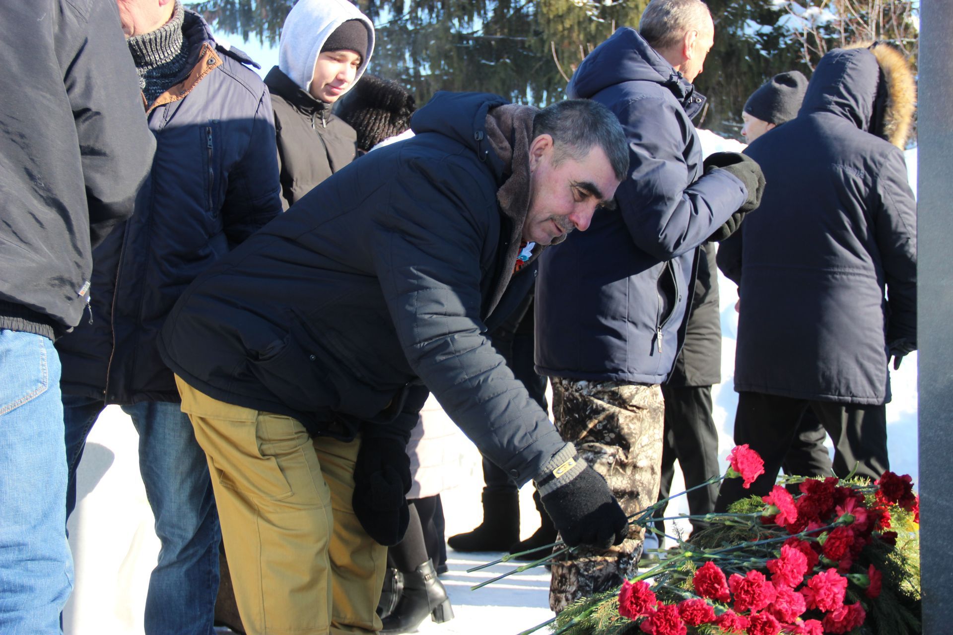
[[[917,342],[917,202],[898,149],[877,179],[874,228],[887,283],[887,343]]]

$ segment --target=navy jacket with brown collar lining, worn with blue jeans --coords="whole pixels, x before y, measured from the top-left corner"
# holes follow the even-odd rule
[[[68,394],[177,402],[155,347],[159,328],[199,273],[281,212],[272,104],[245,67],[253,62],[216,45],[192,11],[183,31],[188,76],[148,112],[150,178],[132,220],[94,254],[93,322],[57,345]]]

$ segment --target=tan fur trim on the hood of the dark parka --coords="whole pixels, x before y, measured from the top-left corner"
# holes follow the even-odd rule
[[[906,148],[913,113],[917,109],[917,81],[901,50],[886,42],[858,42],[846,49],[867,49],[877,58],[886,86],[886,108],[880,136],[900,149]]]

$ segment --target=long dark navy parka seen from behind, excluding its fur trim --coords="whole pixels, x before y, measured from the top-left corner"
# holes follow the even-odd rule
[[[902,150],[868,131],[880,77],[868,50],[828,53],[798,117],[746,150],[767,187],[719,251],[740,284],[736,390],[889,401],[887,343],[917,336],[917,217]]]

